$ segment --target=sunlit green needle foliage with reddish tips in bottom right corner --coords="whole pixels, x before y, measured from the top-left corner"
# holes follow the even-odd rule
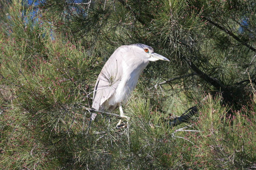
[[[222,98],[207,96],[199,109],[195,141],[209,169],[247,169],[255,163],[255,103],[240,111],[226,112]]]

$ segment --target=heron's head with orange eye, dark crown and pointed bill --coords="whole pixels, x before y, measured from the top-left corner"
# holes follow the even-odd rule
[[[154,53],[154,49],[145,44],[131,44],[131,46],[133,48],[133,52],[136,55],[139,55],[140,57],[143,57],[148,61],[157,61],[157,60],[170,61],[166,57],[159,55],[157,53]]]

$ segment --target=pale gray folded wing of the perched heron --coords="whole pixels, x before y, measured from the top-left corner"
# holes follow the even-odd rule
[[[92,107],[96,110],[108,109],[105,102],[114,94],[121,81],[123,69],[121,54],[118,51],[117,49],[108,59],[95,83]]]

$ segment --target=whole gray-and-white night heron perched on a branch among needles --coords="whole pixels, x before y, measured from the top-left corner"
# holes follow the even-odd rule
[[[121,103],[127,102],[148,62],[157,60],[169,61],[164,56],[154,53],[153,48],[145,44],[131,44],[117,48],[98,76],[92,107],[98,111],[108,112],[119,107],[120,116],[126,117]],[[94,120],[96,115],[93,113],[91,120]]]

